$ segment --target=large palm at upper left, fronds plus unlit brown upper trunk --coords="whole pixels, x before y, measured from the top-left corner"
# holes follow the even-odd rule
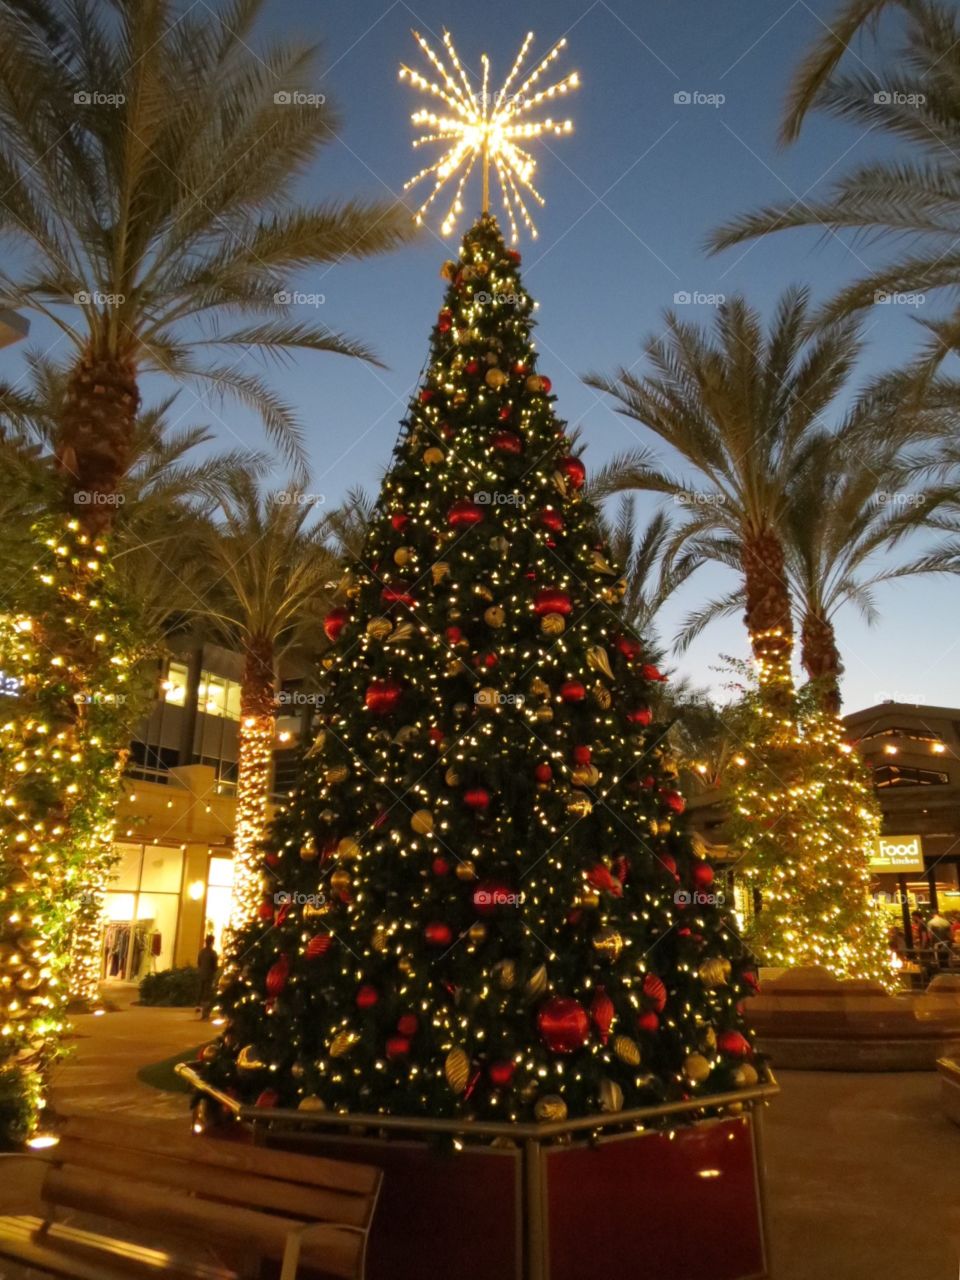
[[[15,251],[0,292],[73,348],[56,454],[92,534],[111,524],[145,374],[238,397],[302,463],[293,410],[244,353],[372,358],[291,315],[284,291],[303,268],[394,248],[411,223],[383,201],[296,201],[337,119],[316,102],[314,49],[253,51],[262,8],[0,5],[0,233]],[[108,500],[78,508],[78,493]]]

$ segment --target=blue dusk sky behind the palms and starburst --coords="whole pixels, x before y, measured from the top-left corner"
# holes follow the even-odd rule
[[[703,248],[710,228],[732,214],[815,197],[845,168],[887,146],[861,129],[813,120],[797,145],[777,150],[788,77],[835,9],[836,0],[488,0],[483,6],[274,0],[269,27],[323,42],[326,70],[315,88],[342,115],[338,138],[303,183],[310,197],[389,196],[421,166],[410,147],[408,122],[420,102],[397,82],[401,60],[420,65],[411,27],[438,41],[449,27],[471,68],[480,52],[489,52],[494,84],[529,28],[538,35],[535,50],[567,36],[557,68],[577,68],[582,77],[582,88],[568,101],[576,132],[539,151],[547,207],[538,215],[540,238],[520,248],[525,283],[540,302],[541,370],[553,379],[558,412],[582,430],[588,467],[596,467],[614,452],[653,442],[614,415],[580,375],[635,361],[641,338],[660,328],[675,293],[742,291],[769,314],[786,284],[809,283],[823,298],[877,260],[876,250],[815,232],[787,233],[718,257]],[[723,95],[724,101],[678,104],[678,92]],[[477,206],[474,188],[467,214]],[[353,485],[375,489],[379,483],[426,355],[445,256],[445,243],[428,233],[401,253],[291,282],[323,294],[320,319],[361,335],[388,366],[306,355],[271,375],[300,407],[312,486],[329,502]],[[704,323],[713,315],[709,305],[684,311]],[[887,306],[865,317],[863,376],[904,360],[916,342],[915,315]],[[229,404],[195,403],[184,392],[179,410],[188,420],[218,424],[224,443],[236,443],[234,435],[260,440],[250,417]],[[649,511],[653,499],[641,497],[640,504]],[[701,571],[664,611],[664,636],[687,609],[728,585],[723,571]],[[841,614],[849,709],[884,696],[960,704],[960,637],[951,622],[956,591],[952,580],[933,579],[883,588],[882,621],[873,628],[852,612]],[[739,620],[710,627],[678,667],[710,682],[721,653],[745,653]]]

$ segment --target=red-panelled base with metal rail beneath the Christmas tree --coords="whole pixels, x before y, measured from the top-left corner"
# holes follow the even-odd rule
[[[768,1275],[760,1111],[776,1084],[710,1100],[712,1117],[696,1100],[508,1125],[244,1107],[178,1070],[253,1142],[383,1169],[367,1280]]]

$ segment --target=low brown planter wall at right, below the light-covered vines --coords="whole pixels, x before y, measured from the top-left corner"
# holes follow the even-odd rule
[[[960,1057],[960,992],[891,996],[817,968],[762,979],[750,1021],[780,1070],[932,1071],[940,1057]]]

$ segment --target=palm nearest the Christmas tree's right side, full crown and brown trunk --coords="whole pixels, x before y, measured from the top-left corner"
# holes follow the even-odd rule
[[[764,333],[742,297],[719,308],[713,333],[666,316],[648,340],[652,372],[621,369],[586,381],[641,422],[691,468],[667,470],[650,449],[616,458],[598,493],[636,488],[668,494],[689,511],[677,539],[726,536],[744,582],[745,622],[764,696],[792,689],[794,644],[786,567],[788,494],[822,433],[820,417],[845,388],[860,349],[854,321],[809,334],[805,289],[788,289]]]

